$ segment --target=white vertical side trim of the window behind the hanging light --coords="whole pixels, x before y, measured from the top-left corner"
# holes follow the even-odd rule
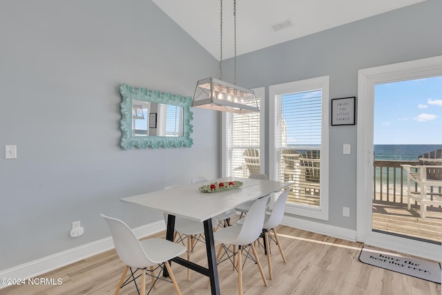
[[[265,88],[253,88],[256,97],[260,97],[260,173],[265,173]],[[221,115],[221,175],[227,176],[227,139],[226,139],[226,113]]]

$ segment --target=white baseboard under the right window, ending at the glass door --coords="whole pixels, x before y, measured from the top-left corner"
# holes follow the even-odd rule
[[[324,223],[309,221],[290,216],[284,216],[281,224],[287,225],[287,227],[294,227],[296,229],[311,231],[316,234],[323,234],[325,236],[332,236],[335,238],[341,238],[343,240],[351,240],[353,242],[356,242],[356,230],[353,229],[335,227],[334,225],[326,225]]]

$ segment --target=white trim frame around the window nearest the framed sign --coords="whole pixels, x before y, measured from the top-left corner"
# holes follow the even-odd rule
[[[286,204],[287,213],[307,216],[320,220],[329,219],[329,76],[272,85],[269,87],[269,178],[276,179],[276,102],[275,97],[285,93],[322,89],[323,122],[321,127],[321,153],[320,153],[320,207],[302,204]]]

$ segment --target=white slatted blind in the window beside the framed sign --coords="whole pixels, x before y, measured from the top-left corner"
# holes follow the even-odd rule
[[[278,95],[277,179],[292,182],[289,202],[320,205],[322,91]]]

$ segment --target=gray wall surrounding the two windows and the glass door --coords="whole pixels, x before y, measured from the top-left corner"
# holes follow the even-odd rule
[[[330,77],[330,99],[357,96],[361,68],[442,55],[441,12],[441,0],[427,0],[242,55],[238,84],[265,86],[267,109],[270,85],[323,75]],[[233,72],[229,61],[227,74]],[[266,119],[268,126],[268,113]],[[268,129],[266,138],[268,151]],[[343,155],[343,144],[352,144],[351,155]],[[329,159],[327,224],[356,229],[356,126],[329,127]],[[349,218],[343,207],[350,208]]]

